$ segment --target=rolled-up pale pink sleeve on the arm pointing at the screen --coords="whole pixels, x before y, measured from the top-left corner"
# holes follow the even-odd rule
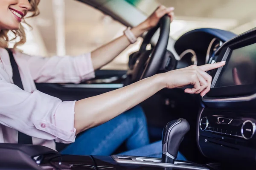
[[[62,102],[38,90],[29,93],[1,78],[0,96],[0,124],[40,139],[75,141],[76,101]]]

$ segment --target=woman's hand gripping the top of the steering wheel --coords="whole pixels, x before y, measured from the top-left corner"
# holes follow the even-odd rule
[[[160,18],[162,18],[165,14],[167,14],[170,17],[172,22],[174,18],[173,11],[174,7],[166,8],[165,6],[161,5],[143,23],[147,26],[147,30],[149,30],[157,26],[157,23],[159,22]]]

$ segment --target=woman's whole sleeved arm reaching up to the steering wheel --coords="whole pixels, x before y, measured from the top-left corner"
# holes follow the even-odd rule
[[[134,35],[139,37],[144,31],[157,25],[159,19],[164,14],[169,14],[172,20],[172,11],[173,8],[160,6],[147,20],[145,20],[145,22],[132,29]],[[20,63],[27,64],[27,68],[29,68],[32,78],[37,83],[79,83],[82,80],[94,78],[94,70],[113,60],[129,44],[130,42],[127,37],[122,36],[92,53],[74,57],[29,56],[22,54],[19,51],[14,51],[14,57],[16,60],[20,60]],[[24,59],[26,60],[26,63],[21,61]]]

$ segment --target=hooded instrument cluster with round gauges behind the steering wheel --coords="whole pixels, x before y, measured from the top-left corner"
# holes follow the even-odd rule
[[[214,52],[235,37],[229,31],[200,28],[187,32],[175,42],[175,51],[189,65],[204,65],[212,62]]]

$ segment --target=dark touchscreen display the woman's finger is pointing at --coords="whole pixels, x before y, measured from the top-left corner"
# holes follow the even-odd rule
[[[255,83],[256,44],[234,49],[230,53],[214,88]]]

